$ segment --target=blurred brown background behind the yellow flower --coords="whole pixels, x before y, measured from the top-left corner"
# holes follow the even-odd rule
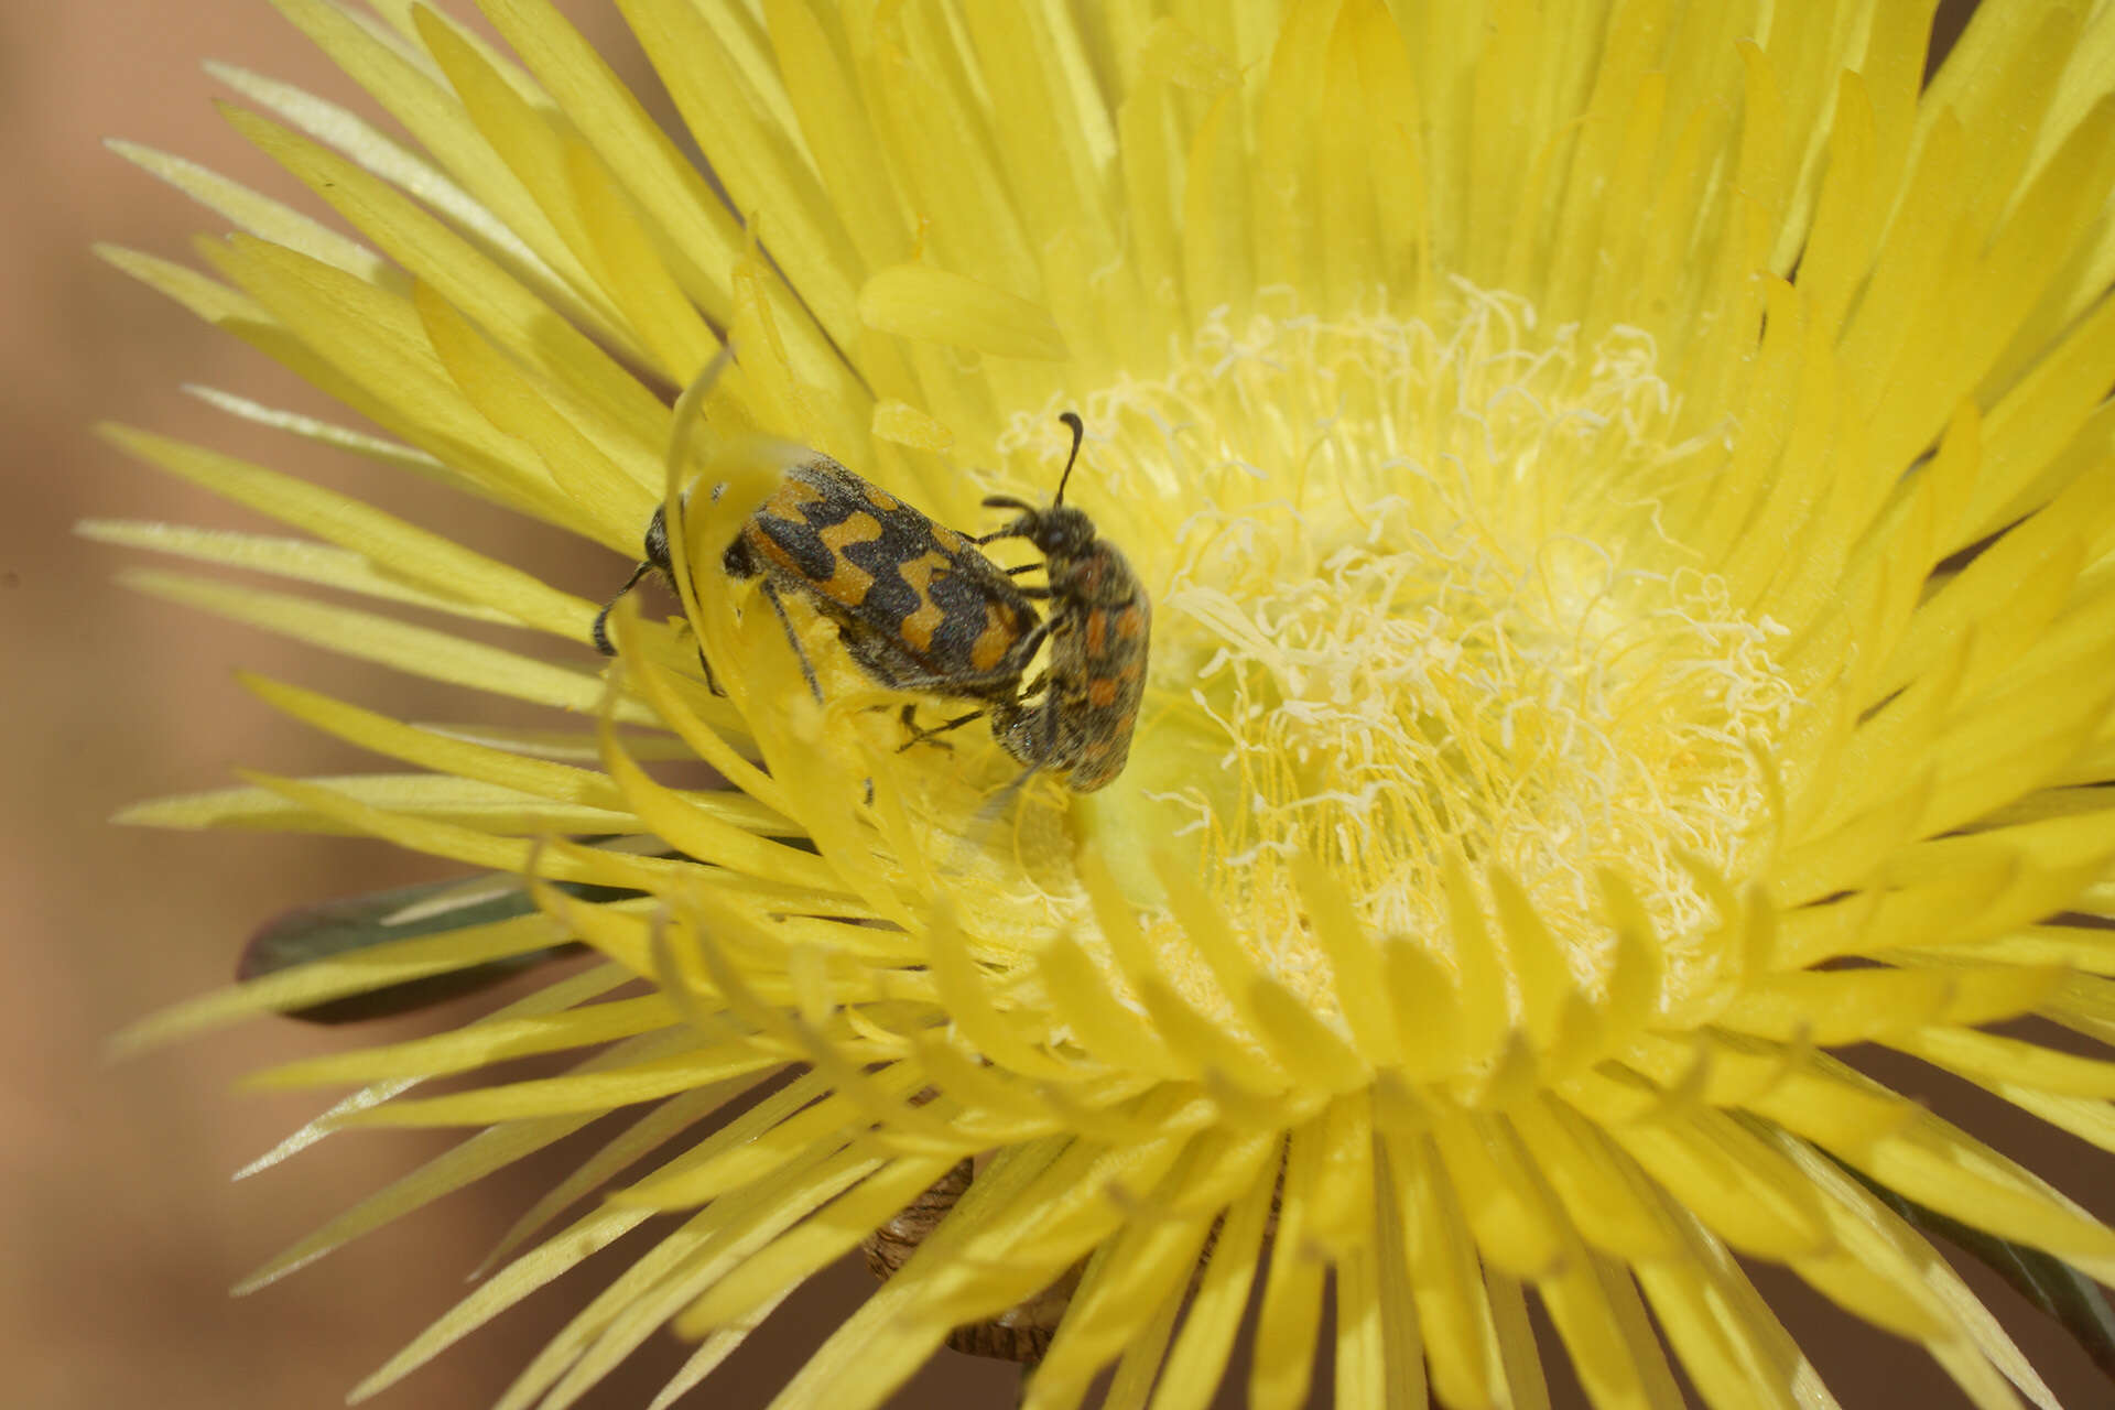
[[[459,6],[461,8],[461,6]],[[626,72],[641,61],[607,4],[577,15]],[[1965,6],[1948,6],[1961,11]],[[224,95],[199,61],[220,57],[351,101],[345,85],[264,0],[76,0],[0,6],[0,619],[6,630],[6,734],[0,827],[11,920],[0,930],[0,1402],[30,1408],[330,1406],[463,1290],[463,1275],[548,1184],[554,1163],[472,1188],[408,1224],[343,1249],[254,1298],[226,1287],[353,1199],[446,1142],[345,1135],[239,1186],[228,1173],[313,1116],[321,1097],[235,1093],[269,1061],[349,1042],[260,1023],[108,1065],[112,1029],[228,979],[241,939],[264,917],[319,896],[442,875],[376,843],[178,835],[112,829],[121,805],[228,782],[237,765],[283,774],[372,767],[264,710],[228,672],[247,666],[410,719],[493,719],[486,702],[391,676],[271,636],[133,596],[112,575],[140,556],[82,543],[82,516],[269,528],[245,512],[137,467],[91,438],[99,419],[197,438],[302,469],[550,571],[594,596],[622,564],[556,535],[419,486],[385,482],[347,457],[243,429],[180,391],[203,383],[328,412],[298,383],[89,254],[114,241],[182,258],[222,222],[159,186],[99,140],[131,137],[254,182],[290,184],[216,116]],[[649,85],[651,87],[651,85]],[[656,91],[658,101],[658,91]],[[313,209],[313,203],[305,203]],[[427,1019],[427,1025],[434,1021]],[[408,1036],[419,1021],[385,1036]],[[1904,1080],[1918,1080],[1914,1074]],[[1978,1129],[2011,1150],[2035,1144],[2043,1173],[2079,1188],[2104,1156],[2039,1135],[2020,1118]],[[2098,1161],[2098,1165],[2094,1163]],[[541,1173],[539,1173],[541,1171]],[[2104,1184],[2098,1182],[2098,1184]],[[2102,1205],[2104,1209],[2104,1205]],[[480,1406],[622,1264],[539,1294],[381,1406]],[[789,1304],[709,1383],[698,1404],[761,1406],[795,1357],[865,1292],[838,1268]],[[1978,1277],[1978,1287],[1990,1281]],[[1929,1363],[1880,1334],[1840,1328],[1768,1275],[1846,1406],[1958,1404]],[[2109,1402],[2064,1338],[1990,1292],[2073,1406]],[[643,1406],[681,1359],[658,1340],[588,1404]],[[905,1406],[1005,1406],[1011,1372],[943,1355]],[[1557,1387],[1569,1399],[1569,1387]]]

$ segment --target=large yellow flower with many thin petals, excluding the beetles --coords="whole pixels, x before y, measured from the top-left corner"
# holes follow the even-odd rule
[[[370,833],[537,905],[417,907],[140,1040],[601,956],[266,1074],[368,1084],[294,1144],[478,1131],[258,1281],[626,1110],[508,1251],[607,1203],[362,1389],[681,1211],[508,1404],[668,1321],[702,1338],[673,1395],[973,1158],[776,1404],[880,1404],[1053,1283],[1036,1408],[1110,1363],[1112,1406],[1206,1404],[1254,1290],[1256,1406],[1303,1404],[1324,1338],[1337,1404],[1538,1404],[1529,1294],[1595,1404],[1677,1404],[1671,1363],[1829,1404],[1736,1256],[1978,1406],[2049,1404],[1920,1230],[2092,1279],[2115,1232],[1842,1051],[2115,1150],[2115,1065],[1992,1032],[2115,1038],[2115,8],[1988,0],[1920,89],[1929,2],[624,0],[709,180],[544,0],[484,2],[512,57],[402,0],[279,6],[412,142],[218,70],[231,120],[362,239],[125,148],[239,233],[212,273],[112,260],[379,431],[239,416],[626,556],[679,524],[683,617],[626,598],[605,668],[592,600],[118,433],[321,543],[106,539],[548,641],[142,586],[571,712],[467,738],[254,681],[406,772],[133,814]],[[1068,408],[1148,687],[1108,789],[1009,795],[981,723],[899,748],[905,700],[797,592],[795,655],[721,554],[812,452],[998,528]]]

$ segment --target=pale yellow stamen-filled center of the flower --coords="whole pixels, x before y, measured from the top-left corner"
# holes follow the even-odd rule
[[[1654,364],[1639,330],[1544,330],[1464,287],[1430,323],[1216,321],[1163,381],[1089,400],[1157,590],[1132,786],[1288,983],[1320,972],[1294,854],[1442,956],[1447,860],[1504,867],[1588,989],[1597,871],[1681,936],[1709,915],[1686,856],[1753,867],[1758,759],[1798,700],[1772,624],[1660,528],[1656,497],[1728,438],[1681,431]]]

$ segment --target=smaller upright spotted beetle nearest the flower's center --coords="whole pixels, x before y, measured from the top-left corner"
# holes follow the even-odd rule
[[[971,541],[1028,539],[1043,554],[1049,575],[1049,586],[1034,592],[1049,598],[1045,630],[1051,653],[1043,700],[1026,704],[1034,689],[994,698],[992,734],[1028,765],[1028,774],[1049,769],[1072,793],[1093,793],[1117,778],[1132,755],[1132,729],[1146,689],[1153,602],[1123,554],[1096,533],[1093,520],[1064,503],[1085,427],[1074,412],[1060,421],[1072,427],[1072,454],[1049,507],[992,495],[983,501],[988,509],[1019,509],[1019,516]]]

